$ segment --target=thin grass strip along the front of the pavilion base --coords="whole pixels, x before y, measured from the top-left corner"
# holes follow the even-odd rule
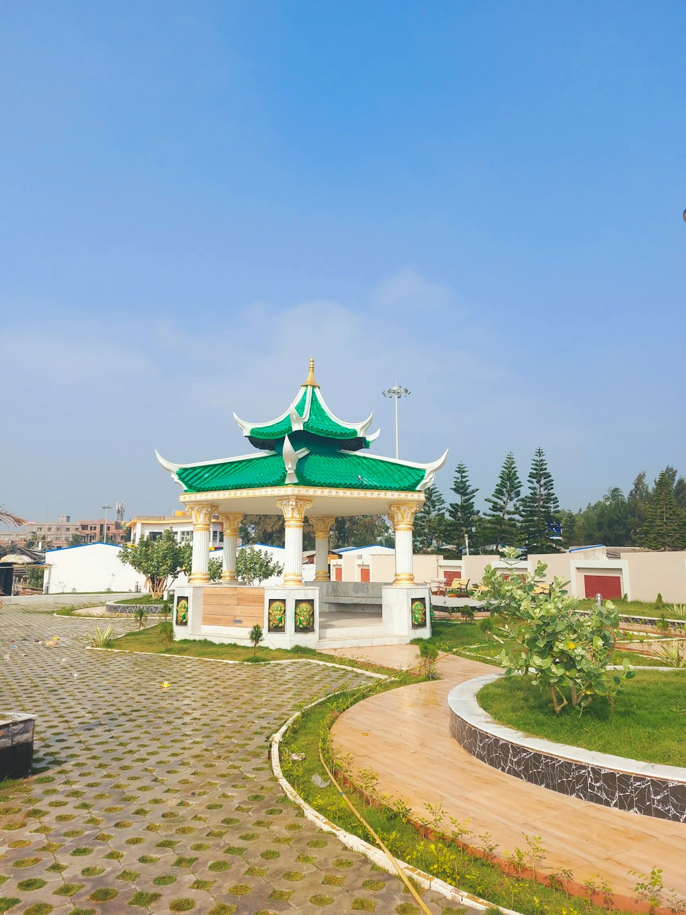
[[[260,646],[257,652],[253,653],[251,645],[237,645],[233,642],[217,644],[207,639],[182,639],[175,641],[172,648],[164,651],[160,645],[158,631],[159,626],[150,626],[145,630],[127,632],[119,639],[113,639],[110,647],[117,648],[120,651],[146,651],[152,654],[175,654],[187,658],[213,658],[219,661],[244,661],[249,663],[295,661],[305,658],[312,661],[340,664],[343,667],[359,667],[362,670],[373,671],[374,673],[395,673],[390,668],[381,667],[378,664],[370,664],[351,658],[340,658],[333,654],[323,654],[321,651],[314,651],[311,648],[302,648],[300,646],[291,649],[264,648]]]

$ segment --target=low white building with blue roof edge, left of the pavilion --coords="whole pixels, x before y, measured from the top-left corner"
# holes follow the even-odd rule
[[[121,546],[84,544],[46,552],[46,594],[145,590],[145,576],[119,561]]]

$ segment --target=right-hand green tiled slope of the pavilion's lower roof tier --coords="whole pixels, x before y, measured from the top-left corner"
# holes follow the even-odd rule
[[[426,471],[393,461],[342,451],[311,452],[300,458],[295,476],[303,486],[332,486],[340,490],[417,490]],[[361,479],[360,479],[361,478]]]

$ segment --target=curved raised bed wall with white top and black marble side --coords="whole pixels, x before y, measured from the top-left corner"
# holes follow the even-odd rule
[[[498,724],[478,705],[477,693],[501,676],[475,677],[448,694],[451,737],[468,753],[493,769],[550,791],[686,823],[686,769],[557,744]]]

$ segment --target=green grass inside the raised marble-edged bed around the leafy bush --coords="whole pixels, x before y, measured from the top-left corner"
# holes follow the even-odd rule
[[[642,759],[686,766],[686,673],[639,671],[627,680],[610,717],[606,699],[596,698],[582,716],[565,707],[552,709],[551,695],[530,677],[508,677],[488,684],[479,704],[499,722],[534,737]]]

